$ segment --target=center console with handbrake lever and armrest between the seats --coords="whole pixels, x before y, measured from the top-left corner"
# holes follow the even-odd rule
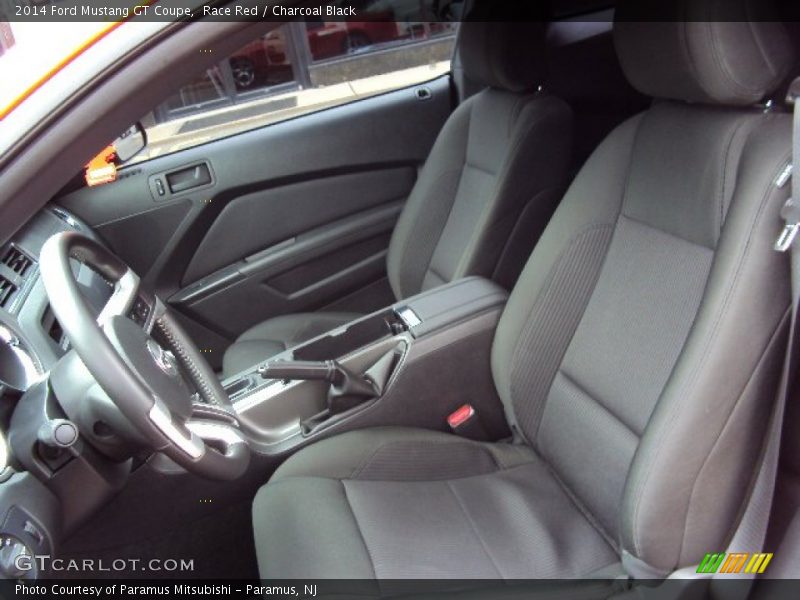
[[[366,315],[224,383],[257,452],[381,425],[446,429],[470,404],[487,436],[508,435],[490,351],[505,290],[470,277]]]

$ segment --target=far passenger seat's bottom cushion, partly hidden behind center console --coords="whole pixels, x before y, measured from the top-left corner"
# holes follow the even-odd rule
[[[358,313],[297,313],[259,323],[245,331],[226,351],[223,377],[254,367],[301,342],[322,335],[357,318]]]

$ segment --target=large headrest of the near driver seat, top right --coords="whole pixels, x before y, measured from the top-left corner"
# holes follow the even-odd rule
[[[656,98],[733,106],[762,100],[787,77],[794,52],[781,23],[761,20],[759,2],[661,0],[660,21],[637,22],[648,2],[620,0],[614,42],[628,81]]]

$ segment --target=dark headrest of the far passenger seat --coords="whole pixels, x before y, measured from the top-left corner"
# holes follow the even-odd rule
[[[510,92],[531,90],[546,73],[545,26],[537,21],[464,21],[459,52],[464,72],[475,83]]]

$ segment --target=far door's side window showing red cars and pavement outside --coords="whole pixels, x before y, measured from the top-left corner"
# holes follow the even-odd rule
[[[134,162],[430,81],[450,70],[457,25],[379,19],[287,23],[149,113],[142,120],[148,148]]]

